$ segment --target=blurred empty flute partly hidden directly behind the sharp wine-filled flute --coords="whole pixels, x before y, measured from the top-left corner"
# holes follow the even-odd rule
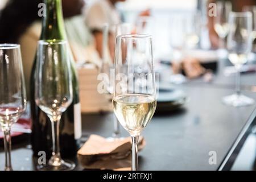
[[[102,42],[102,67],[101,73],[105,73],[108,75],[108,80],[106,81],[106,93],[113,94],[113,85],[110,82],[111,78],[111,70],[114,70],[114,49],[115,49],[115,38],[118,35],[122,34],[130,34],[131,32],[131,25],[129,23],[121,23],[121,24],[105,24],[103,30],[103,42]],[[120,127],[119,122],[115,115],[113,115],[113,122],[114,122],[114,131],[112,136],[109,137],[109,140],[116,140],[122,139],[120,137]]]

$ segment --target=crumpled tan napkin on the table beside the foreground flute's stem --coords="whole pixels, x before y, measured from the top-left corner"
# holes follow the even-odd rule
[[[139,150],[145,146],[139,139]],[[98,135],[89,139],[77,152],[79,163],[85,169],[131,170],[131,138],[109,141]]]

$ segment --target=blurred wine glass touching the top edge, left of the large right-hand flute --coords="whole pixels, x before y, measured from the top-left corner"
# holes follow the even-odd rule
[[[217,1],[217,16],[214,16],[214,30],[220,38],[220,56],[226,57],[225,38],[229,31],[229,13],[232,11],[232,4],[228,1]]]

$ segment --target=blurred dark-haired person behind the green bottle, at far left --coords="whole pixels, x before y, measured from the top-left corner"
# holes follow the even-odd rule
[[[42,21],[38,16],[38,4],[42,2],[43,0],[9,0],[0,16],[0,43],[20,44],[28,96],[31,69],[42,29]],[[85,27],[84,17],[81,15],[84,1],[62,2],[65,29],[75,61],[91,60],[97,52],[91,46],[92,35]],[[94,60],[97,62],[97,59]]]

